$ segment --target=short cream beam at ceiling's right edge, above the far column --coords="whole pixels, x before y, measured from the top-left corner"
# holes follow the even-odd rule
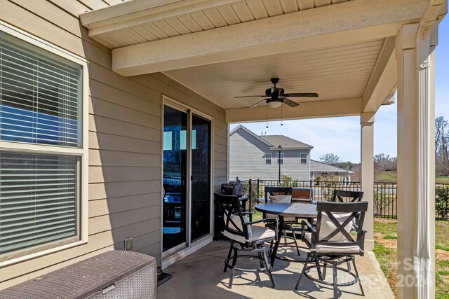
[[[363,112],[375,112],[395,89],[397,79],[395,38],[385,39],[382,49],[363,93]]]

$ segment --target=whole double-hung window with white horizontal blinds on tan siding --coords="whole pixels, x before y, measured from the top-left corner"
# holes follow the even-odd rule
[[[1,262],[81,239],[87,105],[86,62],[0,29]]]

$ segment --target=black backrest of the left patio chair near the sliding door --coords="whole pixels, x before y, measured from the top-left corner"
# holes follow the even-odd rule
[[[222,195],[218,193],[214,193],[213,196],[222,215],[223,228],[234,235],[240,235],[248,239],[248,228],[246,225],[243,225],[245,221],[240,209],[239,197],[237,195]],[[236,221],[240,221],[240,224],[236,223]]]

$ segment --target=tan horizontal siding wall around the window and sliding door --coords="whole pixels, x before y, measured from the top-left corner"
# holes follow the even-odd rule
[[[116,1],[107,1],[114,4]],[[225,111],[163,74],[126,78],[77,15],[105,1],[0,0],[1,20],[89,63],[88,243],[1,268],[0,289],[103,251],[133,250],[161,263],[161,101],[166,95],[214,119],[215,186],[227,180]]]

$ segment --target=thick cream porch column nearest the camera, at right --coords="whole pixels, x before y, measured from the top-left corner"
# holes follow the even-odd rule
[[[403,25],[398,60],[398,298],[435,297],[436,29]],[[432,35],[431,35],[432,32]]]

